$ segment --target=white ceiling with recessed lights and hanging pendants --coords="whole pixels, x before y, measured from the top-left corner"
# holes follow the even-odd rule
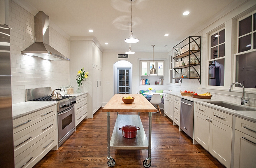
[[[170,52],[172,47],[230,12],[245,0],[133,0],[133,51]],[[14,0],[39,11],[69,36],[95,36],[104,52],[125,52],[129,44],[131,0]],[[190,14],[183,16],[182,13]],[[51,26],[51,25],[50,25]],[[94,32],[88,32],[92,29]],[[169,34],[169,36],[164,36]],[[105,45],[108,43],[108,45]],[[166,45],[166,47],[164,47]]]

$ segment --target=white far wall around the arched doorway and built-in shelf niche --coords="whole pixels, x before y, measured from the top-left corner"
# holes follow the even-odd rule
[[[117,61],[126,60],[132,63],[132,94],[136,94],[140,89],[148,89],[149,86],[139,86],[140,84],[140,58],[144,59],[152,59],[153,52],[136,52],[135,54],[129,55],[128,59],[118,59],[117,54],[123,54],[120,52],[103,52],[102,53],[102,98],[103,98],[103,106],[107,104],[107,102],[114,95],[114,68],[113,65]],[[154,59],[166,59],[166,68],[165,68],[165,83],[168,82],[168,54],[163,52],[154,51]],[[107,84],[110,82],[110,84]],[[166,89],[167,85],[164,86],[154,86],[153,89]]]

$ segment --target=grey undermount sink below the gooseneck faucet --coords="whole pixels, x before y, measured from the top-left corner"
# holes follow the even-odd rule
[[[230,104],[223,101],[205,101],[206,103],[214,104],[224,108],[236,110],[236,111],[256,111],[256,108],[245,107],[243,105]]]

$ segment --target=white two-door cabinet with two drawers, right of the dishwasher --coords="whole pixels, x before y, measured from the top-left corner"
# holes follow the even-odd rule
[[[226,167],[231,165],[233,116],[195,103],[194,140]]]

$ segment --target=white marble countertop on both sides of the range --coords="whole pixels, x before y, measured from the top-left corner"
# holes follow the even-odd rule
[[[71,96],[80,96],[88,92],[69,94]],[[57,101],[24,101],[21,103],[12,105],[12,119],[20,118],[26,116],[30,113],[36,112],[38,110],[53,106],[58,104]]]

